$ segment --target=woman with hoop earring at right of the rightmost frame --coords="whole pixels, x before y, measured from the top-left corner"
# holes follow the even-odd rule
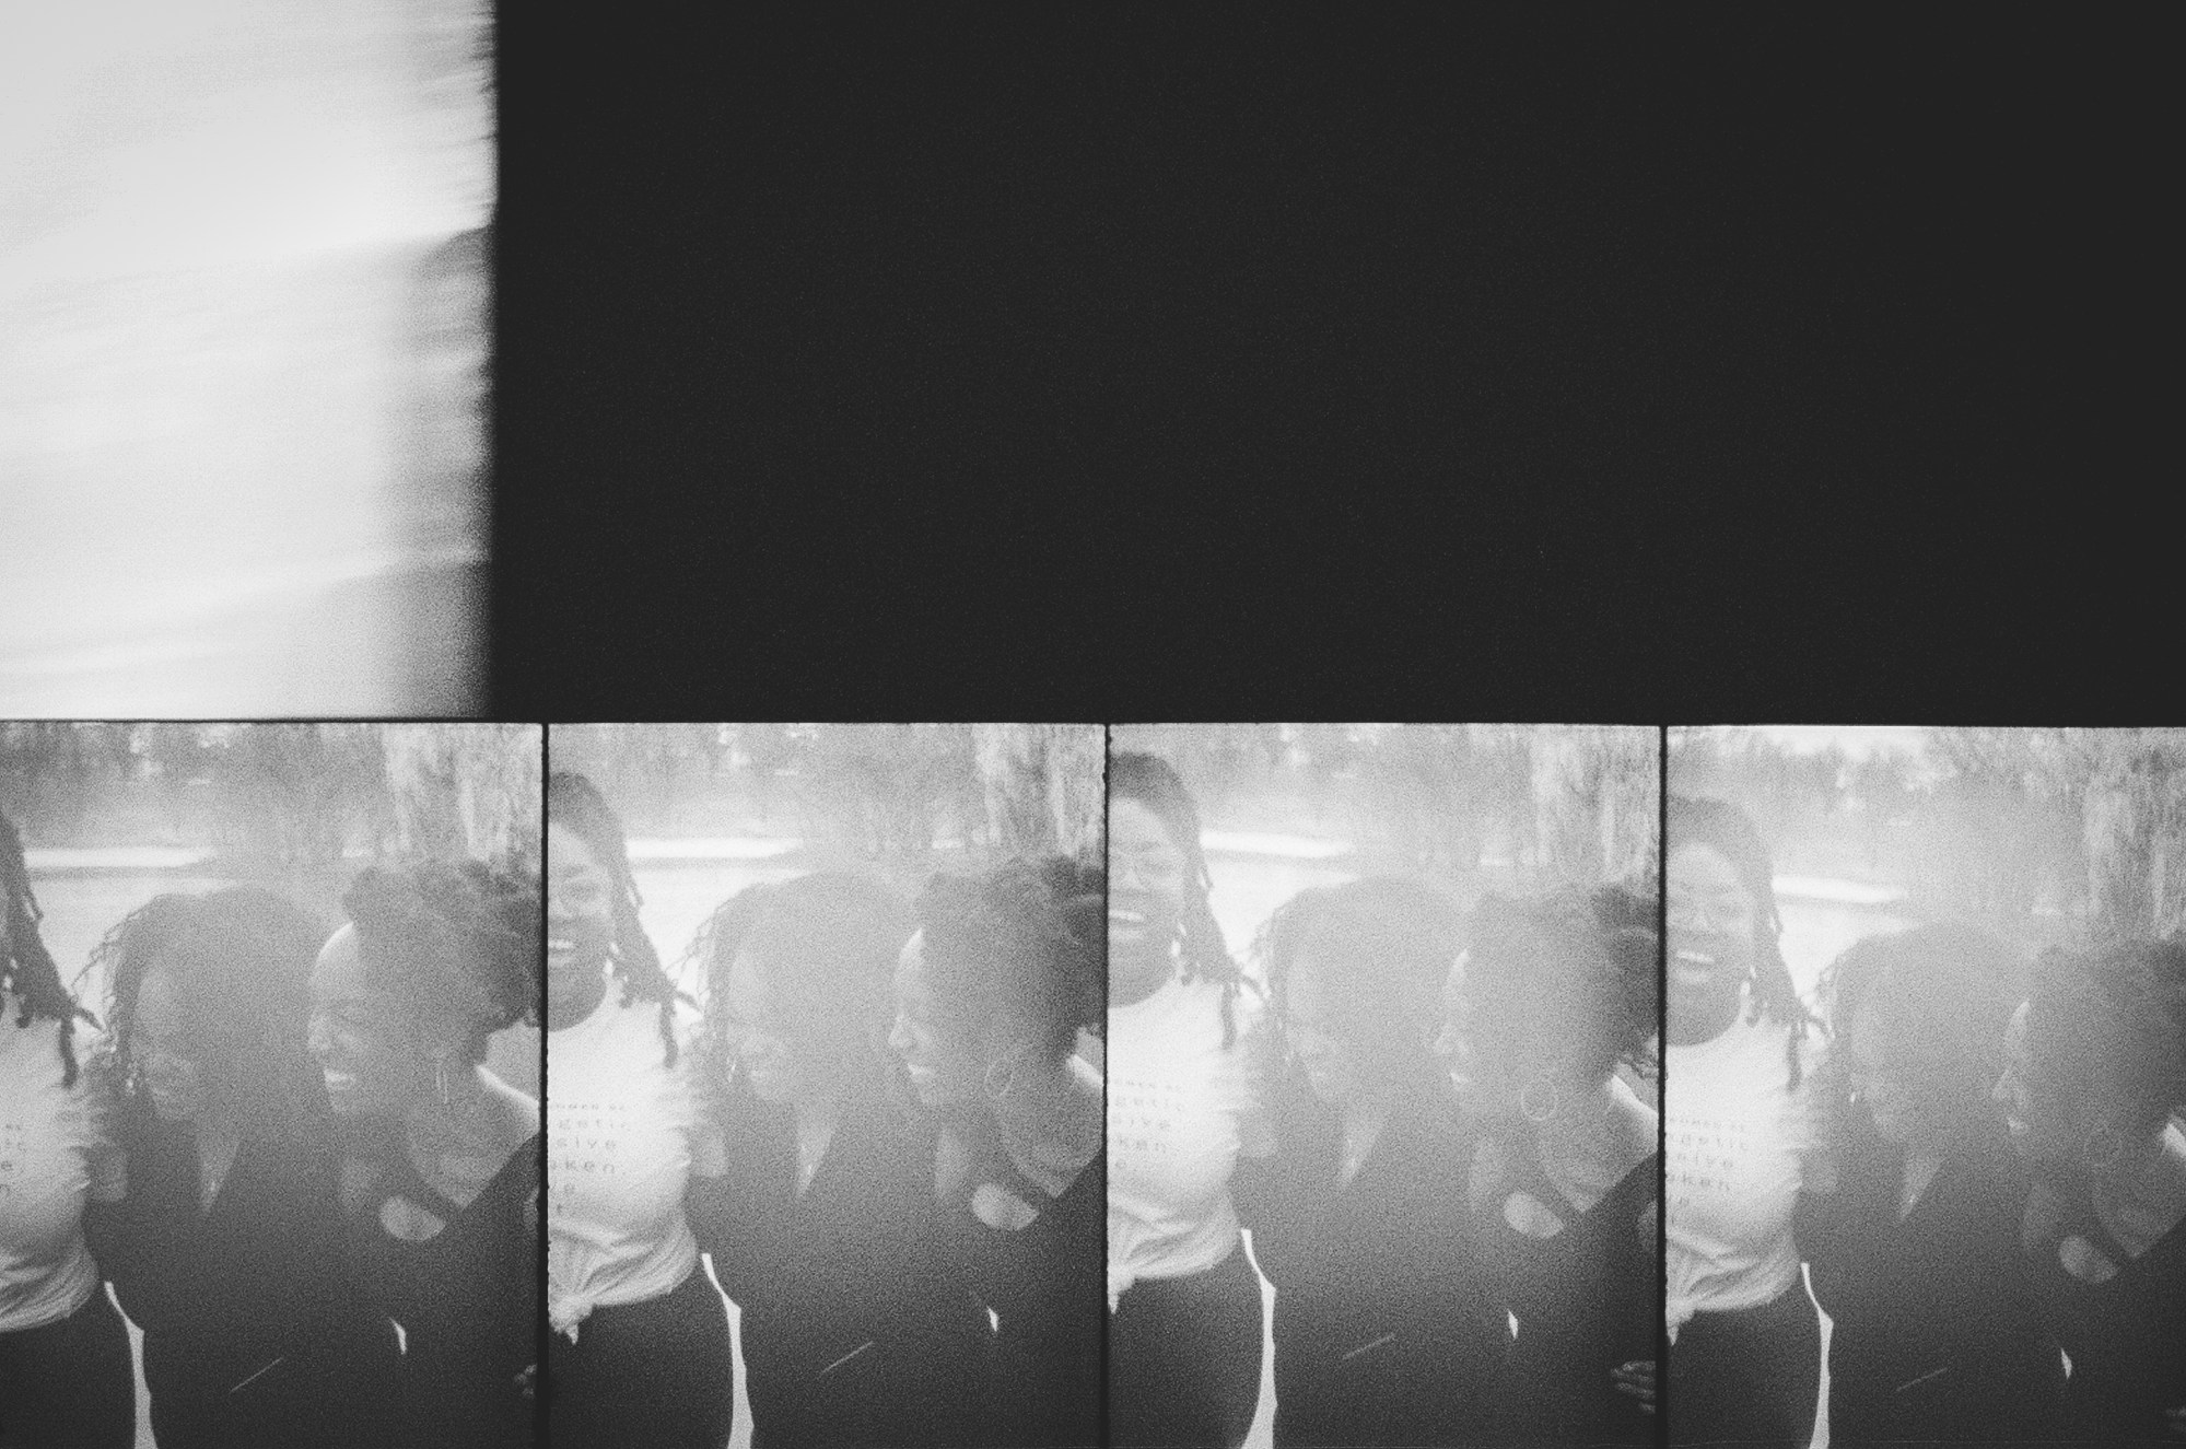
[[[2022,1272],[2070,1357],[2064,1436],[2186,1438],[2186,946],[2050,953],[1996,1082],[2033,1169]]]

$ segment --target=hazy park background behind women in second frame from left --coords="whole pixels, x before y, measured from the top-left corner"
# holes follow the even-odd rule
[[[546,728],[546,758],[588,776],[623,817],[645,933],[693,994],[691,938],[745,885],[859,870],[914,900],[936,870],[1104,852],[1100,726],[579,723]],[[1100,1040],[1080,1034],[1080,1056],[1100,1064]],[[750,1449],[743,1311],[721,1300],[728,1449]]]

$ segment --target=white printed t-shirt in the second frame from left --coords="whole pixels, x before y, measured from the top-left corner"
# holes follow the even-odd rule
[[[610,979],[590,1016],[546,1034],[546,1313],[571,1342],[595,1307],[691,1276],[684,1185],[719,1156],[695,1086],[697,1014],[678,1008],[669,1069],[658,1003],[621,1001]]]

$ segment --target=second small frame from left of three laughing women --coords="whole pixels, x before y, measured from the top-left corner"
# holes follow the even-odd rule
[[[549,765],[546,1442],[1100,1442],[1102,728]]]

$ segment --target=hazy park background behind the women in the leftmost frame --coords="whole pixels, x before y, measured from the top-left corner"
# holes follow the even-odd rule
[[[39,935],[105,1016],[92,946],[166,892],[254,883],[319,916],[367,863],[468,855],[540,868],[540,728],[505,723],[0,721],[0,811],[22,830]],[[540,1032],[487,1040],[485,1064],[540,1091]],[[138,1353],[138,1449],[151,1416]]]

